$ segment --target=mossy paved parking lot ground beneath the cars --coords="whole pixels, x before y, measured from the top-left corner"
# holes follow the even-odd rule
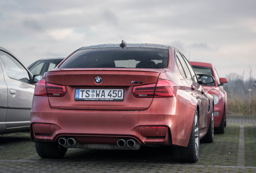
[[[142,147],[138,151],[68,149],[62,159],[43,159],[29,132],[0,135],[0,172],[256,172],[256,117],[227,117],[224,134],[213,143],[200,143],[197,163],[176,163],[169,147]]]

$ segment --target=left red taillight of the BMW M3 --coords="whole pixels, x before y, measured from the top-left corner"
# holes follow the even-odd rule
[[[39,82],[37,82],[35,85],[34,95],[37,96],[62,97],[65,94],[65,86],[47,83],[45,82],[45,78],[39,80]]]

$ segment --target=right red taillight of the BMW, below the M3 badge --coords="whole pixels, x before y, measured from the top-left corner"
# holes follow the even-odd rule
[[[135,97],[175,97],[177,85],[169,80],[159,79],[157,84],[133,87]]]

